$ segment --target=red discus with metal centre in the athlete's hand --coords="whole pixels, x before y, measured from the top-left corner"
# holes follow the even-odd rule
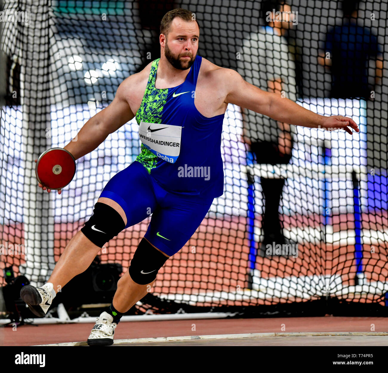
[[[61,147],[46,150],[36,162],[35,174],[36,179],[47,189],[62,189],[75,175],[74,157]]]

